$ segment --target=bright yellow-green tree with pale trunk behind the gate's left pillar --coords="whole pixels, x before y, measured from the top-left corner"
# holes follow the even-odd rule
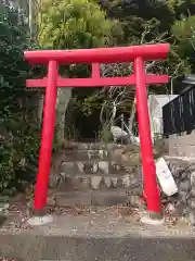
[[[103,47],[109,44],[114,23],[90,0],[42,0],[39,20],[39,44],[43,48],[74,49]],[[69,76],[62,67],[61,74]],[[57,139],[64,139],[65,113],[72,88],[57,92]]]

